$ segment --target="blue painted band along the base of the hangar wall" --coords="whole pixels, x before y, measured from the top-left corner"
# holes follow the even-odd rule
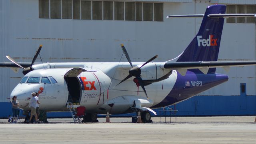
[[[174,106],[170,106],[174,109]],[[0,102],[0,118],[12,114],[9,102]],[[194,96],[176,104],[178,116],[256,115],[256,96]],[[159,114],[160,109],[155,111]],[[119,114],[114,116],[134,116]],[[70,117],[70,112],[48,112],[48,118]]]

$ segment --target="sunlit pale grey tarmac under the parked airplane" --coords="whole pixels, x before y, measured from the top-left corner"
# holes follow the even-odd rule
[[[72,118],[48,119],[49,124],[10,124],[0,119],[1,144],[255,144],[255,116],[98,118],[98,123],[74,124]]]

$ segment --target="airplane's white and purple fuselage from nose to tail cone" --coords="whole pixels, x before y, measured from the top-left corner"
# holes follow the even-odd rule
[[[90,65],[94,67],[88,68]],[[143,80],[154,78],[147,73],[152,66],[155,71],[159,71],[158,75],[160,74],[158,70],[160,63],[152,62],[142,69]],[[67,111],[67,102],[72,102],[85,106],[86,112],[90,113],[106,114],[108,111],[110,114],[122,114],[130,112],[128,109],[133,105],[135,98],[144,100],[145,102],[141,103],[144,107],[159,108],[186,100],[228,80],[228,76],[222,74],[200,72],[196,74],[187,71],[186,76],[181,76],[178,71],[169,70],[162,72],[164,75],[171,71],[168,78],[145,86],[149,98],[147,100],[142,88],[133,81],[134,77],[117,85],[128,74],[127,62],[69,63],[69,65],[48,63],[48,69],[41,67],[44,67],[43,64],[35,65],[33,68],[38,70],[26,74],[24,76],[27,77],[26,81],[19,83],[12,91],[11,98],[16,95],[20,108],[24,110],[30,110],[28,103],[31,93],[38,92],[41,110]],[[79,71],[72,67],[84,67],[84,69]],[[38,78],[38,82],[29,82],[30,77]],[[57,83],[52,82],[50,77]],[[160,76],[154,79],[157,77]],[[51,82],[43,83],[42,79],[46,78]]]

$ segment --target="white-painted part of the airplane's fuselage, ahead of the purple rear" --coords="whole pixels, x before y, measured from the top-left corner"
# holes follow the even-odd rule
[[[140,62],[133,63],[135,66],[142,64]],[[142,79],[160,78],[168,71],[160,68],[161,63],[151,63],[142,69]],[[152,68],[154,66],[154,68]],[[42,69],[46,67],[47,69]],[[128,75],[131,68],[128,62],[105,62],[105,63],[46,63],[37,64],[33,68],[36,69],[29,72],[25,76],[49,77],[56,79],[56,84],[43,83],[20,83],[11,93],[16,95],[20,102],[20,108],[29,110],[29,100],[32,92],[42,92],[39,94],[40,109],[46,111],[67,111],[66,103],[68,102],[68,85],[64,79],[65,74],[72,68],[83,68],[77,79],[80,84],[80,106],[86,107],[86,112],[94,112],[105,114],[106,111],[111,111],[112,114],[124,113],[131,105],[134,98],[148,102],[142,88],[136,86],[133,82],[134,77],[124,81],[116,86],[124,77]],[[159,68],[159,69],[158,69]],[[157,70],[156,75],[152,75],[149,70]],[[170,70],[169,70],[170,71]],[[156,72],[154,72],[156,73]],[[83,83],[80,80],[84,81]],[[146,107],[152,107],[159,104],[170,93],[177,80],[177,72],[174,71],[165,80],[154,82],[145,89],[148,94],[150,103],[143,103]],[[43,90],[42,90],[43,88]],[[110,108],[107,104],[114,102],[115,105]],[[118,107],[121,106],[121,107]],[[106,109],[105,111],[102,108]]]

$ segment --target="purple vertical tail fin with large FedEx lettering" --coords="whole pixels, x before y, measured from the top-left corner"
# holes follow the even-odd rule
[[[190,42],[177,62],[217,61],[224,18],[209,18],[208,14],[225,14],[226,6],[208,6],[202,20],[199,32]],[[209,72],[215,72],[210,68]]]

